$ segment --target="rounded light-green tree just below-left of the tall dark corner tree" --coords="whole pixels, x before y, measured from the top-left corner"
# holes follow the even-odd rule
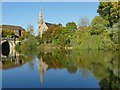
[[[107,26],[109,25],[109,22],[99,16],[95,16],[91,22],[91,35],[93,34],[100,34],[102,33]]]

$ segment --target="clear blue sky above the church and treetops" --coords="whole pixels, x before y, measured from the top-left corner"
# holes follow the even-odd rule
[[[96,10],[98,2],[3,2],[2,24],[19,25],[27,28],[32,24],[37,32],[37,21],[40,8],[43,19],[49,23],[61,23],[74,21],[78,24],[81,17],[90,20],[98,15]]]

